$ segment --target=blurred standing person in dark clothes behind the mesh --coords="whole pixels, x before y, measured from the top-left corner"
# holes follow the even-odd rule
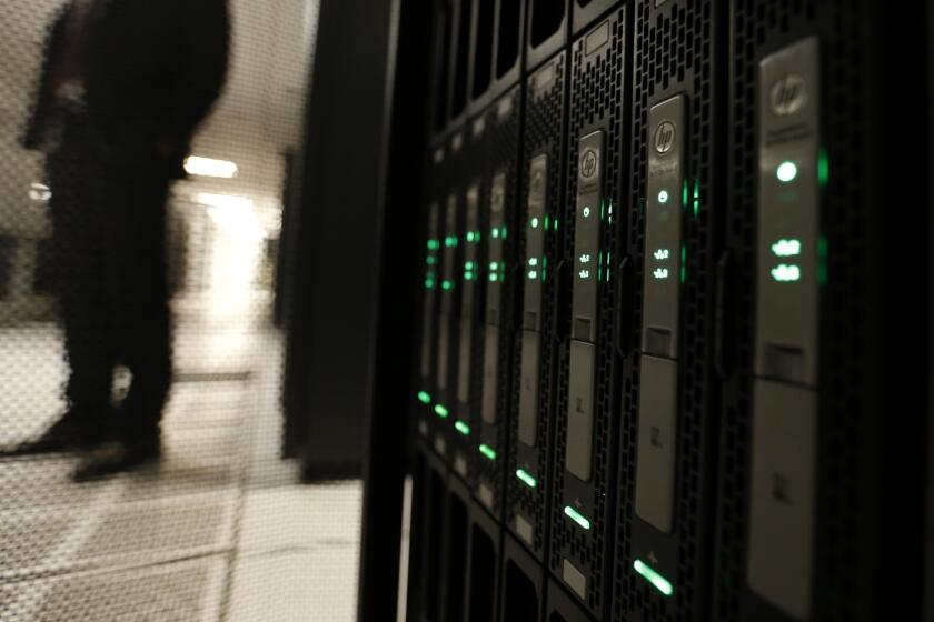
[[[86,452],[85,481],[161,457],[171,383],[166,203],[220,94],[227,0],[71,0],[53,18],[23,147],[46,154],[67,410],[23,453]],[[111,403],[113,372],[131,384]]]

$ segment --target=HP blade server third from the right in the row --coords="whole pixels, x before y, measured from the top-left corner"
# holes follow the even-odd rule
[[[566,223],[559,278],[550,571],[602,620],[609,602],[619,395],[615,301],[627,195],[625,87],[629,13],[623,7],[572,46]],[[609,88],[619,86],[619,88]]]

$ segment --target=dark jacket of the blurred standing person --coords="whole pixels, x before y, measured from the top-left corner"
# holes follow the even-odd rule
[[[180,164],[195,130],[223,86],[230,42],[227,0],[102,0],[88,26],[85,87],[88,114],[118,157],[177,147]],[[42,144],[54,114],[50,70],[63,46],[72,2],[46,37],[42,72],[23,146]]]

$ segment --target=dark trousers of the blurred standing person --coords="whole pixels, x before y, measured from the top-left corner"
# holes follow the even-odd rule
[[[155,156],[101,147],[82,119],[47,160],[52,261],[70,368],[66,397],[89,437],[149,438],[171,382],[166,273],[169,175]],[[113,370],[132,381],[109,408]]]

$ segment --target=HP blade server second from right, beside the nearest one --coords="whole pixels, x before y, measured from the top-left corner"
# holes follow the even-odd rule
[[[636,0],[615,619],[709,608],[726,12]]]

